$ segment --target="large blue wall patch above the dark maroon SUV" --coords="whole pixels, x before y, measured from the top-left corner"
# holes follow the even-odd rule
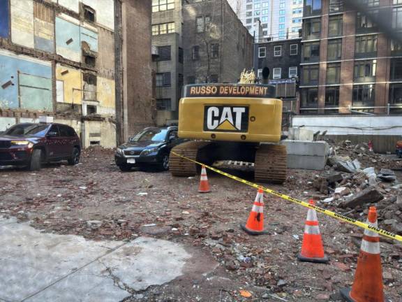
[[[52,68],[45,62],[0,52],[0,108],[19,107],[52,110]]]

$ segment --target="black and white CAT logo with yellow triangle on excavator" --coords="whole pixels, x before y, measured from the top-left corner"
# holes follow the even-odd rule
[[[248,107],[205,106],[204,131],[247,132]]]

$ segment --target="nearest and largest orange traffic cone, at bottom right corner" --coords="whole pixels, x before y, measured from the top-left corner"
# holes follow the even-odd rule
[[[378,227],[375,207],[370,207],[368,210],[367,224]],[[380,238],[378,233],[364,230],[355,281],[352,289],[341,289],[341,295],[348,302],[384,302],[388,300],[384,298],[383,289]]]

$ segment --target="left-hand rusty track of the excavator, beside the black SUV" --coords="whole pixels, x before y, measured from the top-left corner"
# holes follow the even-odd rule
[[[208,141],[189,141],[181,143],[172,149],[172,152],[181,154],[189,159],[197,160],[200,149],[209,145]],[[169,170],[173,176],[194,176],[197,174],[197,164],[170,153]]]

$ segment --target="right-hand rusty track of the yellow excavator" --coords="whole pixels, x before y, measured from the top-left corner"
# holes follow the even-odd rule
[[[255,152],[255,181],[282,184],[286,180],[286,170],[286,146],[261,144]]]

